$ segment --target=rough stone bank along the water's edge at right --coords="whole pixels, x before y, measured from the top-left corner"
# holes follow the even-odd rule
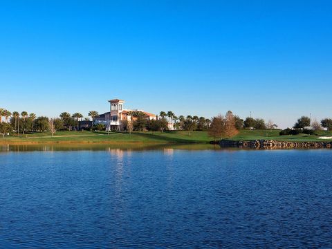
[[[232,141],[221,140],[219,145],[225,147],[237,147],[243,149],[331,149],[332,142],[288,142],[276,140],[248,140]]]

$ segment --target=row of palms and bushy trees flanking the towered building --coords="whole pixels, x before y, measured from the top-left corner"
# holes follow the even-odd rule
[[[169,129],[188,131],[209,131],[211,136],[216,137],[230,137],[234,136],[236,131],[241,129],[276,129],[278,126],[272,120],[266,123],[264,119],[247,117],[245,120],[239,116],[233,115],[232,111],[228,111],[225,116],[218,115],[212,120],[199,116],[176,116],[173,111],[160,111],[156,120],[147,120],[145,113],[142,111],[129,111],[130,120],[127,120],[125,129],[127,131],[167,131]],[[88,117],[92,121],[99,116],[98,111],[89,111]],[[133,120],[133,117],[135,120]],[[90,121],[90,118],[84,118],[81,113],[62,112],[58,118],[48,118],[46,116],[37,117],[35,113],[28,113],[27,111],[10,112],[6,109],[0,108],[0,133],[15,133],[25,134],[26,132],[45,132],[45,131],[59,131],[59,130],[73,130],[79,128],[80,121]],[[93,125],[93,122],[92,122]],[[216,127],[219,131],[216,132]],[[221,129],[221,127],[223,127]],[[294,133],[297,129],[304,129],[311,127],[313,131],[326,128],[332,129],[332,119],[324,118],[318,122],[311,120],[307,116],[302,116],[295,122],[293,129],[284,130],[284,133]],[[92,129],[104,130],[103,124],[93,125]]]

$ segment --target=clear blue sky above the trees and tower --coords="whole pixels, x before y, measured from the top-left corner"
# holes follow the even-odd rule
[[[1,1],[0,107],[332,116],[331,1]]]

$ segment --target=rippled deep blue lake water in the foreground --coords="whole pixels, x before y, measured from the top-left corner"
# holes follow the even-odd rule
[[[83,149],[1,147],[0,248],[332,248],[332,150]]]

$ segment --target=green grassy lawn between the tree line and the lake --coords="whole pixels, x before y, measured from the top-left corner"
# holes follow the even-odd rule
[[[332,132],[320,131],[319,136],[332,136]],[[296,136],[279,136],[279,130],[242,130],[232,140],[260,140],[273,139],[285,141],[332,141],[318,139],[319,136],[310,136],[299,134]],[[167,131],[167,132],[111,132],[106,131],[57,131],[53,137],[50,133],[28,133],[17,136],[5,137],[0,140],[2,143],[20,143],[20,142],[176,142],[176,143],[206,143],[212,141],[213,138],[208,136],[206,131],[193,131],[190,136],[187,131]]]

